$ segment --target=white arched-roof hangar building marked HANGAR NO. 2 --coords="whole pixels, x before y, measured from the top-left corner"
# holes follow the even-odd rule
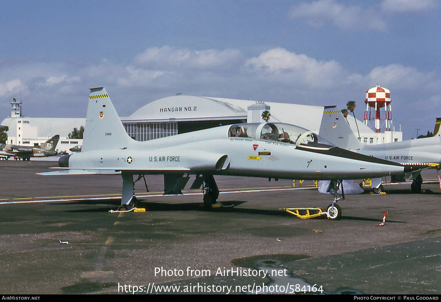
[[[270,122],[290,123],[318,132],[323,108],[179,95],[148,103],[121,121],[132,138],[143,141],[218,125],[263,122],[262,112],[267,110]]]

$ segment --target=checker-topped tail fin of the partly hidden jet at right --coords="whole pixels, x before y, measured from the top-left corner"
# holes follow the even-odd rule
[[[355,150],[363,148],[363,143],[352,132],[346,118],[344,118],[340,110],[335,108],[336,106],[325,106],[318,134],[325,140],[344,149]]]

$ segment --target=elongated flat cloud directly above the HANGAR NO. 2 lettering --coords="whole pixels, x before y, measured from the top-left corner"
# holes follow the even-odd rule
[[[194,68],[213,69],[229,68],[241,57],[237,49],[208,49],[192,51],[189,49],[174,49],[169,46],[147,48],[135,57],[135,65],[150,68]]]

